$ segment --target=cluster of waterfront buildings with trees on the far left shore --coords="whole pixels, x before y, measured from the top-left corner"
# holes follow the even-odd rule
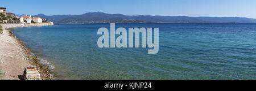
[[[49,23],[46,19],[31,15],[16,16],[13,12],[7,12],[6,7],[0,7],[0,23]]]

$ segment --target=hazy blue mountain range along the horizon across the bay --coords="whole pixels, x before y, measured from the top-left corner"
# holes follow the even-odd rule
[[[54,23],[256,23],[256,19],[238,17],[188,17],[188,16],[127,16],[88,12],[82,15],[34,15]]]

